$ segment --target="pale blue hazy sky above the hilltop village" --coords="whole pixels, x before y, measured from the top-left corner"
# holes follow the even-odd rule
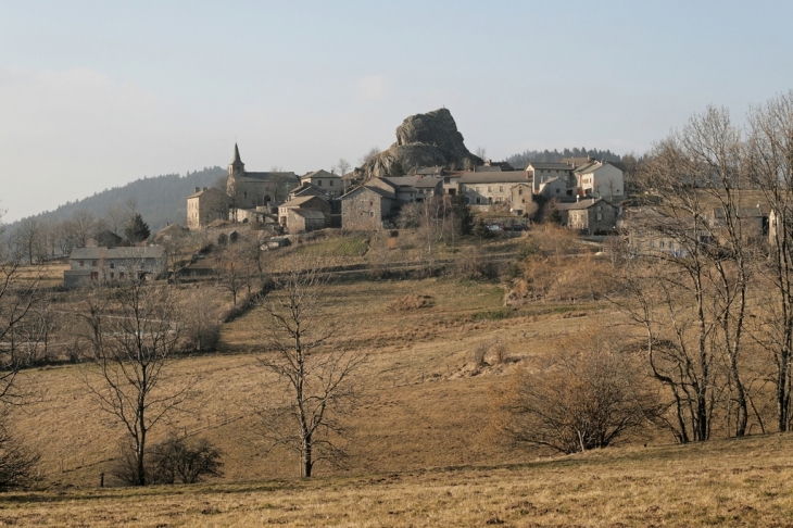
[[[790,1],[0,0],[3,222],[143,176],[304,174],[448,108],[502,160],[643,153],[793,89]],[[141,197],[143,199],[143,197]]]

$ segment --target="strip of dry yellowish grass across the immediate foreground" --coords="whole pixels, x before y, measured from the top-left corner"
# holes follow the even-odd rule
[[[5,494],[5,526],[793,526],[793,437],[354,477]]]

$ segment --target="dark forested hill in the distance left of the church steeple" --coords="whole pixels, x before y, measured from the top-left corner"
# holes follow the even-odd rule
[[[97,217],[103,217],[111,205],[124,206],[130,198],[137,199],[138,212],[154,232],[167,224],[185,225],[187,221],[187,197],[196,187],[211,187],[226,175],[226,169],[218,166],[204,167],[202,171],[188,172],[185,176],[166,174],[163,176],[143,177],[123,187],[113,187],[92,197],[75,202],[66,202],[54,211],[36,215],[39,219],[63,221],[72,213],[85,209]],[[17,223],[10,224],[9,232]]]

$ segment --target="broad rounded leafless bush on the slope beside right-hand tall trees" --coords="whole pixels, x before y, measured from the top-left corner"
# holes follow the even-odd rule
[[[501,438],[568,454],[612,445],[659,410],[641,360],[619,339],[593,332],[517,370],[493,406]]]

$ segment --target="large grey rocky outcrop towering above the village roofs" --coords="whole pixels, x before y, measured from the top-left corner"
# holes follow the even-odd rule
[[[402,176],[418,167],[466,168],[484,163],[465,148],[452,113],[439,109],[411,115],[396,128],[396,142],[355,169],[353,179]]]

